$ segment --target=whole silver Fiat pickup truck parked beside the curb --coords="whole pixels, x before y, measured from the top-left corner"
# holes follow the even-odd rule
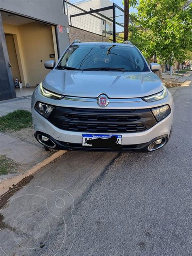
[[[169,140],[173,98],[157,63],[129,41],[75,41],[32,96],[34,135],[46,150],[153,151]]]

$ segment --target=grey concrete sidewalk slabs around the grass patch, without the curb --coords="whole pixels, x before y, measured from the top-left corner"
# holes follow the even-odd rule
[[[0,116],[17,109],[31,111],[31,96],[0,101]],[[32,127],[18,132],[0,132],[0,141],[0,155],[17,162],[20,171],[30,168],[50,155],[50,152],[46,152],[34,138]]]

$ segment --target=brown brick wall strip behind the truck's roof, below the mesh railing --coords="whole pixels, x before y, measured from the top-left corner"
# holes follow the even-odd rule
[[[105,36],[100,36],[80,28],[69,27],[69,41],[72,43],[75,39],[82,42],[109,42]]]

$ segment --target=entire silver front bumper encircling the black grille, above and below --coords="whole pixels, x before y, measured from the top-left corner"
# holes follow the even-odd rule
[[[46,100],[46,101],[45,101]],[[55,149],[64,149],[64,150],[87,150],[87,151],[115,151],[114,149],[104,149],[104,148],[93,148],[93,147],[85,147],[82,146],[82,134],[105,134],[105,132],[74,132],[69,130],[62,130],[49,122],[47,119],[42,117],[35,109],[34,105],[37,101],[45,102],[50,105],[58,105],[59,101],[50,100],[50,102],[45,98],[38,94],[36,91],[32,97],[32,119],[34,126],[34,134],[35,136],[39,134],[45,134],[45,136],[49,137],[56,144]],[[70,101],[69,101],[70,102]],[[158,104],[157,104],[158,103]],[[62,106],[65,106],[62,102],[60,103]],[[79,107],[79,102],[73,102],[73,107]],[[137,102],[134,104],[127,104],[127,108],[136,109]],[[142,151],[142,149],[146,149],[148,145],[153,142],[155,139],[166,137],[166,141],[169,140],[171,125],[173,121],[173,99],[171,94],[169,93],[166,98],[163,100],[158,100],[157,102],[139,102],[139,106],[137,108],[152,108],[158,107],[161,105],[168,104],[171,107],[171,113],[164,118],[162,121],[158,122],[151,128],[141,131],[141,132],[130,132],[130,133],[115,133],[112,134],[121,134],[122,135],[122,145],[123,149],[121,151]],[[60,105],[60,106],[61,106]],[[68,106],[68,105],[66,105]],[[88,106],[87,106],[88,107]],[[93,105],[93,108],[96,106]],[[97,106],[98,108],[98,106]],[[117,106],[111,105],[111,109],[117,109]],[[119,106],[118,106],[119,108]],[[122,108],[125,108],[122,106]],[[109,134],[109,133],[108,133]]]

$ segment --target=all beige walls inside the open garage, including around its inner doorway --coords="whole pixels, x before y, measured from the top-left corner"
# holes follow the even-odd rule
[[[22,85],[36,86],[49,73],[44,62],[58,59],[54,26],[32,22],[21,26],[3,23],[3,27],[5,34],[13,35]],[[55,58],[49,58],[53,53]]]

